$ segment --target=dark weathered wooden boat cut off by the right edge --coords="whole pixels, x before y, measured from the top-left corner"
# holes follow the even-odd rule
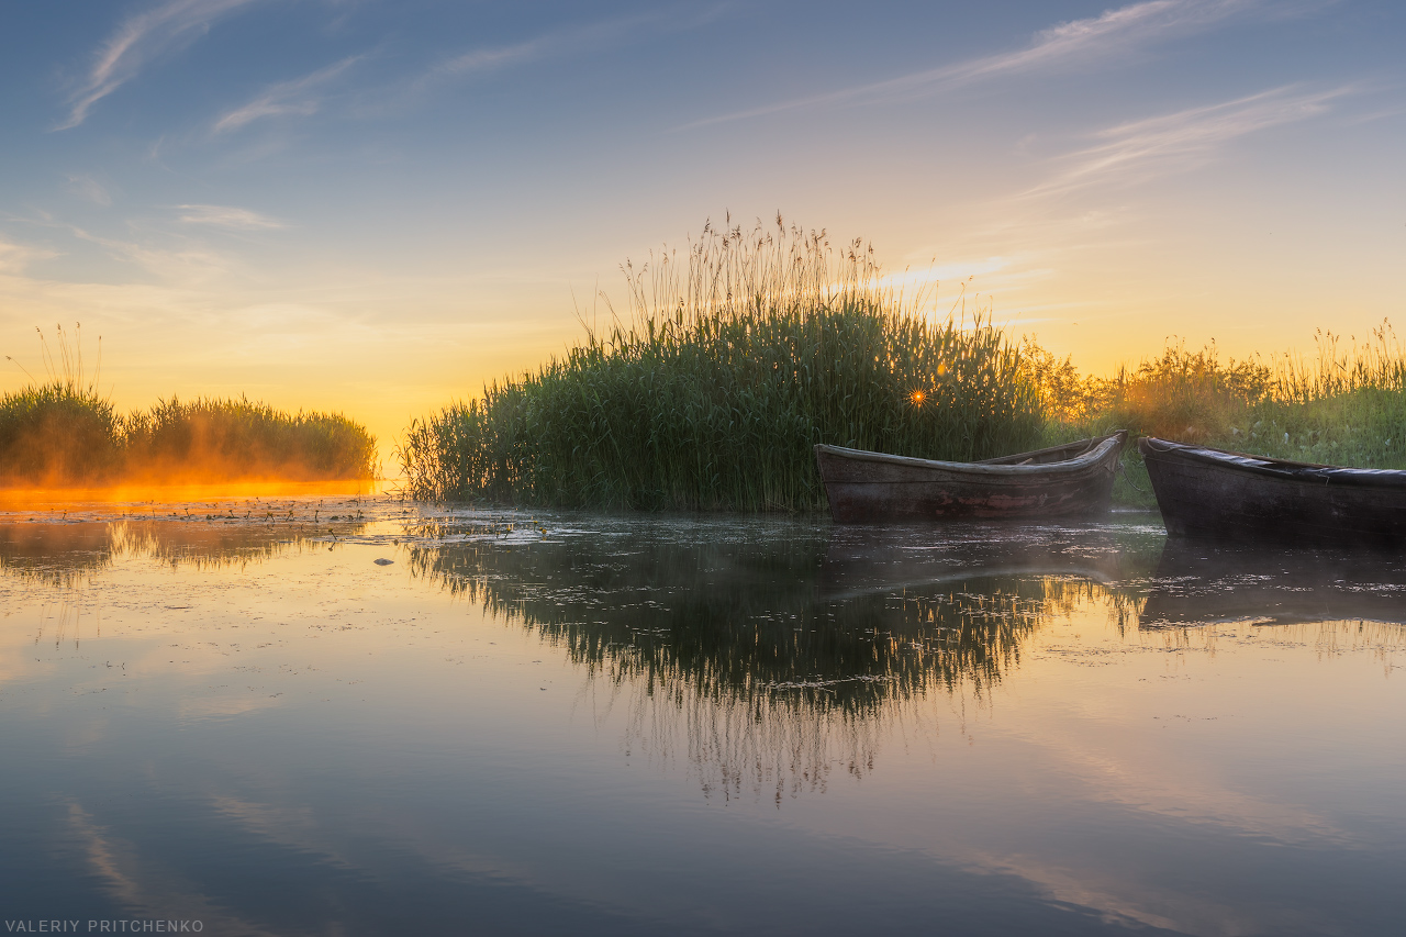
[[[1406,544],[1406,471],[1344,468],[1144,436],[1167,532],[1282,544]]]

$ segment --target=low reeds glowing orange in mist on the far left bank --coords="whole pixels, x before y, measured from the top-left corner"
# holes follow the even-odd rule
[[[0,490],[377,476],[375,438],[340,414],[288,414],[243,397],[173,397],[122,415],[100,393],[97,373],[84,377],[80,340],[70,343],[59,328],[56,353],[42,332],[41,345],[48,380],[31,376],[0,395]]]

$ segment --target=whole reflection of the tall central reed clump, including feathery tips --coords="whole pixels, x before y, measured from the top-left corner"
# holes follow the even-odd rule
[[[624,706],[627,751],[685,757],[709,792],[778,798],[873,765],[918,702],[984,701],[1050,615],[1107,598],[1050,575],[825,597],[824,542],[586,537],[458,543],[412,571],[537,632]]]

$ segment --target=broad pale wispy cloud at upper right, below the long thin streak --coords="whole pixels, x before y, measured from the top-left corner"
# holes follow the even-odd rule
[[[1128,184],[1204,165],[1223,144],[1327,113],[1353,86],[1309,91],[1277,87],[1220,104],[1119,124],[1102,141],[1064,158],[1069,167],[1026,196],[1057,196],[1087,186]]]

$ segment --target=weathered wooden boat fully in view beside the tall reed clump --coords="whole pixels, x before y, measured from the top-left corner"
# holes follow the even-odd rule
[[[1108,511],[1128,431],[984,461],[815,446],[838,523],[1046,519]]]

